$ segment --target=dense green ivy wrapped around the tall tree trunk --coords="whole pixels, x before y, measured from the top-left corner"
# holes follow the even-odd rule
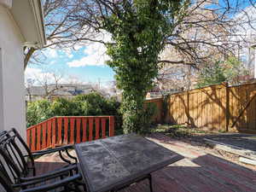
[[[181,20],[189,0],[122,1],[116,12],[104,20],[104,29],[114,44],[107,45],[108,66],[116,73],[122,93],[124,132],[142,132],[144,99],[158,74],[160,51],[168,34]]]

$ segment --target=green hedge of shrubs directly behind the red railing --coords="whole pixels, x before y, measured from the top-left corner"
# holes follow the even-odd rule
[[[98,93],[74,96],[72,100],[57,98],[53,102],[40,100],[29,102],[26,110],[27,127],[36,125],[54,116],[93,116],[114,115],[115,131],[122,131],[122,117],[119,113],[120,103],[114,98],[106,99]]]

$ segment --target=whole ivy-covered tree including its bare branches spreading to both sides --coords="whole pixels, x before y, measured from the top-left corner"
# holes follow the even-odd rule
[[[111,43],[102,44],[108,48],[108,65],[123,91],[125,132],[140,132],[144,125],[144,96],[157,77],[158,65],[198,67],[213,54],[232,55],[239,47],[239,39],[244,39],[237,38],[234,31],[253,21],[232,17],[244,8],[240,0],[79,1],[73,20],[112,37]],[[183,56],[161,60],[160,52],[167,45]]]

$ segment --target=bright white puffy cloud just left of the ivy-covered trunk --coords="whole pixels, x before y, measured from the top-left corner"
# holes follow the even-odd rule
[[[102,32],[101,36],[98,36],[98,40],[104,42],[110,42],[111,36],[107,32]],[[106,47],[101,43],[91,43],[84,49],[84,56],[79,60],[74,60],[67,62],[69,67],[84,67],[84,66],[104,66],[106,61],[110,60],[109,56],[106,54]]]

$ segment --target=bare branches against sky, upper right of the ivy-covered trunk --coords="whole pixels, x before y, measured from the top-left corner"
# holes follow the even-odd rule
[[[235,55],[244,44],[251,43],[246,33],[248,28],[254,30],[256,17],[247,15],[244,1],[193,2],[176,30],[166,38],[166,48],[174,56],[160,63],[200,67],[212,58]]]

